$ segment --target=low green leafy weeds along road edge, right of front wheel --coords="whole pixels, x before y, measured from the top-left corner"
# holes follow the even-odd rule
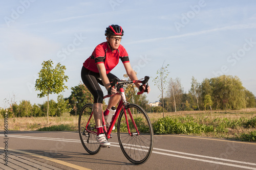
[[[159,118],[153,123],[154,132],[157,134],[228,134],[229,129],[241,129],[243,127],[255,128],[256,127],[256,116],[251,119],[238,118],[238,119],[227,119],[227,118],[215,118],[213,120],[205,119],[207,124],[202,123],[201,118],[194,118],[192,116],[166,116]],[[224,135],[225,136],[225,135]],[[256,141],[256,131],[253,130],[249,133],[238,134],[236,139],[242,141]]]

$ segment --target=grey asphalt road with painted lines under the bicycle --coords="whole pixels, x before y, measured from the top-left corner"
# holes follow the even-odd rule
[[[3,150],[3,133],[0,138]],[[109,140],[111,148],[90,155],[83,149],[77,132],[10,131],[8,152],[60,169],[256,169],[256,142],[155,135],[150,159],[134,165],[124,157],[117,135]]]

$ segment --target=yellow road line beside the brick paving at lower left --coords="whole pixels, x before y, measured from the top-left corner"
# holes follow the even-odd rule
[[[0,149],[4,150],[4,148],[0,148]],[[72,164],[72,163],[68,163],[68,162],[65,162],[65,161],[49,158],[49,157],[46,157],[46,156],[42,156],[42,155],[38,155],[38,154],[26,152],[26,151],[20,151],[20,150],[14,150],[14,149],[8,149],[8,151],[19,152],[19,153],[35,156],[35,157],[38,157],[38,158],[41,158],[41,159],[46,159],[46,160],[49,160],[49,161],[52,161],[52,162],[55,162],[55,163],[59,163],[59,164],[65,165],[65,166],[69,166],[69,167],[72,167],[72,168],[75,168],[75,169],[91,170],[91,169],[88,169],[88,168],[85,168],[85,167],[82,167],[82,166],[78,166],[78,165],[75,165],[75,164]]]

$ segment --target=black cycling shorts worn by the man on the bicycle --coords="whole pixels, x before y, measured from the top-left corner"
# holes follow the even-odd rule
[[[110,82],[114,81],[114,78],[117,78],[112,73],[109,73],[106,75],[109,78]],[[100,85],[104,86],[100,75],[98,72],[93,72],[84,66],[82,66],[81,70],[81,78],[82,82],[86,87],[89,89],[89,91],[92,93],[94,97],[94,103],[103,103],[103,91],[101,90]]]

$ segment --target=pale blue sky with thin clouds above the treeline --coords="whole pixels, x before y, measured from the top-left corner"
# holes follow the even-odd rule
[[[256,94],[255,1],[0,1],[0,107],[15,95],[19,104],[42,104],[34,84],[41,63],[49,59],[67,67],[63,95],[81,81],[80,70],[105,41],[112,24],[124,30],[121,44],[138,78],[150,76],[163,62],[169,78],[180,78],[184,91],[220,75],[238,76]],[[122,78],[121,62],[113,74]],[[150,81],[150,102],[160,91]],[[106,91],[105,91],[106,92]],[[167,94],[167,92],[166,92]],[[57,95],[50,95],[56,101]]]

